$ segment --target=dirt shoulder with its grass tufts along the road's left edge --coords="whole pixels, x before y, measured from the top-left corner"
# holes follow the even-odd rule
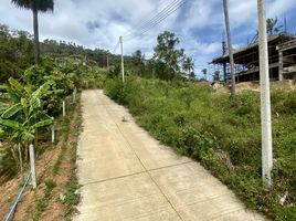
[[[78,188],[68,191],[75,182],[76,144],[81,127],[81,106],[72,107],[61,122],[60,139],[55,147],[46,149],[36,161],[38,188],[29,185],[18,204],[13,220],[64,220],[72,211],[72,201],[67,194],[75,194],[78,200]],[[4,219],[12,207],[22,185],[15,178],[0,187],[1,214]],[[3,192],[3,194],[2,194]],[[74,193],[75,192],[75,193]]]

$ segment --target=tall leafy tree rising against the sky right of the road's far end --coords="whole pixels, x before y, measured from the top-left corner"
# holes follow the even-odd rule
[[[163,62],[173,72],[180,71],[180,63],[184,59],[184,50],[176,49],[180,42],[175,33],[165,31],[157,36],[157,46],[154,49],[154,59],[159,62]]]

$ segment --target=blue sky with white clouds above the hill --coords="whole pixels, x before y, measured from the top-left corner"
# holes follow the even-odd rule
[[[131,55],[141,50],[151,57],[157,35],[166,30],[179,38],[195,64],[195,74],[211,66],[209,62],[222,54],[224,17],[222,0],[187,0],[173,12],[145,34],[137,35],[140,24],[149,21],[175,0],[54,0],[53,13],[40,13],[40,40],[54,39],[75,42],[85,48],[114,52],[120,35],[124,36],[124,53]],[[87,2],[87,3],[86,3]],[[32,12],[15,8],[10,0],[0,0],[0,23],[10,29],[32,29]],[[234,49],[243,46],[257,30],[256,0],[229,0],[230,25]],[[296,1],[266,0],[266,18],[277,18],[278,24],[287,21],[287,31],[296,33]],[[125,38],[131,34],[133,38]],[[119,50],[115,51],[119,53]],[[213,70],[212,70],[213,72]]]

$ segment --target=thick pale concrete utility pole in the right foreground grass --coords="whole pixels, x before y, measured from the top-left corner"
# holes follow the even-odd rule
[[[273,141],[265,0],[257,0],[257,13],[261,85],[262,179],[263,185],[267,188],[271,188],[271,173],[273,169]]]

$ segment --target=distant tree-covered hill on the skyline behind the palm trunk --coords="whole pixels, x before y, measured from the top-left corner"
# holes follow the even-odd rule
[[[41,42],[40,46],[43,57],[73,57],[101,67],[107,66],[107,55],[112,65],[117,65],[120,62],[119,55],[114,55],[102,49],[86,49],[73,42],[45,40]],[[126,56],[125,59],[129,63],[130,57]],[[0,81],[6,82],[10,76],[19,78],[23,71],[33,64],[33,35],[0,24]]]

